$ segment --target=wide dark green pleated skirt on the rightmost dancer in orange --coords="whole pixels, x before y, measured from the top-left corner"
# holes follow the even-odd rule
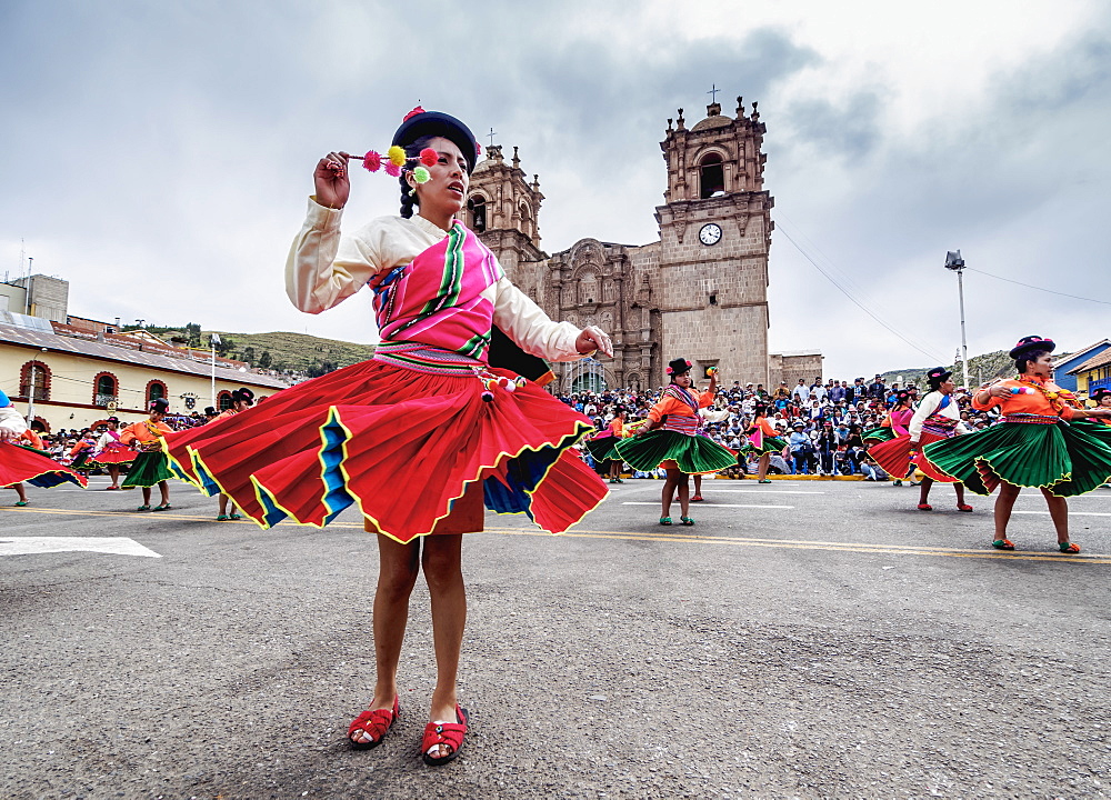
[[[977,494],[990,494],[1000,481],[1007,481],[1048,489],[1057,497],[1075,497],[1111,477],[1111,427],[1083,420],[1000,422],[927,444],[922,452]]]

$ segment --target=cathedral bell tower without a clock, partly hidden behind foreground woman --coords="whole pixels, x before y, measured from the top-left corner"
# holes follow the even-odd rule
[[[538,217],[544,196],[540,178],[527,180],[521,159],[506,163],[500,144],[487,148],[487,157],[474,167],[463,223],[479,234],[498,257],[507,277],[526,294],[540,301],[543,262]]]

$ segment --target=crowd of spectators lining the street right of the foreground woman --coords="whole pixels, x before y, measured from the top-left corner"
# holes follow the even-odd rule
[[[705,390],[705,386],[700,387]],[[870,480],[884,480],[887,476],[871,462],[864,449],[863,433],[879,427],[895,394],[905,389],[919,398],[929,389],[914,384],[900,387],[885,383],[881,376],[871,381],[815,378],[789,387],[780,383],[768,391],[762,383],[718,387],[717,398],[704,427],[704,434],[731,450],[741,452],[734,472],[755,471],[755,458],[743,453],[749,428],[758,404],[767,407],[768,420],[787,442],[782,452],[772,456],[771,471],[789,474],[862,474]],[[601,430],[609,424],[617,409],[627,412],[625,423],[647,417],[648,410],[660,399],[663,388],[634,392],[605,390],[600,392],[572,392],[559,399],[593,420]],[[953,394],[961,409],[961,419],[972,430],[985,428],[998,411],[979,412],[971,408],[971,396],[964,389]],[[727,471],[728,473],[728,471]]]

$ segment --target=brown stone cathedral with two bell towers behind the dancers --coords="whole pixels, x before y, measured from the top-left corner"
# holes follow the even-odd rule
[[[735,117],[714,102],[691,128],[679,109],[660,143],[668,169],[655,209],[660,240],[581,239],[551,256],[540,249],[539,177],[528,180],[518,148],[508,163],[500,146],[487,149],[471,177],[464,222],[552,319],[597,324],[613,339],[613,360],[588,368],[594,373],[553,366],[561,389],[593,388],[599,378],[612,388],[658,387],[679,357],[694,364],[695,379],[718,367],[725,384],[769,390],[821,374],[819,353],[768,352],[774,201],[763,188],[763,134],[757,103],[745,113],[741,98]]]

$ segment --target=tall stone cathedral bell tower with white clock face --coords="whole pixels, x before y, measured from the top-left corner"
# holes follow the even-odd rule
[[[704,382],[704,370],[720,369],[725,383],[769,384],[768,252],[771,196],[763,190],[761,152],[764,124],[757,103],[745,114],[723,117],[721,104],[687,129],[683,110],[660,143],[668,164],[660,224],[660,291],[653,292],[660,320],[661,358],[684,357]],[[657,370],[653,370],[653,373]],[[665,382],[662,374],[653,374]]]

